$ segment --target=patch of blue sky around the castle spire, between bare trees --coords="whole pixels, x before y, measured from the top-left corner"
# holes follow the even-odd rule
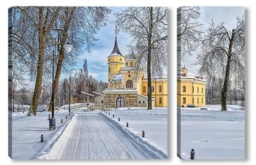
[[[97,80],[102,80],[108,82],[108,55],[110,55],[113,50],[115,43],[115,23],[111,23],[115,18],[113,12],[121,9],[120,7],[109,7],[112,9],[112,13],[109,16],[109,21],[107,26],[104,26],[95,36],[99,39],[94,42],[95,46],[91,48],[91,53],[84,53],[80,55],[80,61],[78,65],[75,66],[76,69],[83,68],[83,59],[87,59],[87,66],[89,74],[92,75]],[[127,45],[129,44],[129,36],[123,32],[117,34],[118,47],[123,55],[129,54],[127,51]]]

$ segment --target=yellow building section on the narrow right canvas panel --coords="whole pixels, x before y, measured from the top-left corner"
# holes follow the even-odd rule
[[[200,107],[206,105],[206,80],[181,68],[177,77],[178,107]]]

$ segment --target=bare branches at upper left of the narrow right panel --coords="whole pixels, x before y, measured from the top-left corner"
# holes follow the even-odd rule
[[[184,60],[185,55],[192,55],[197,50],[203,34],[203,23],[199,21],[200,7],[179,7],[177,13],[178,51],[181,51],[181,60]]]

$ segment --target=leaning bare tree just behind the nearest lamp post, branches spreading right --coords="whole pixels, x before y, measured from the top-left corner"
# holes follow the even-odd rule
[[[73,66],[74,61],[77,60],[76,57],[83,52],[81,47],[86,45],[86,50],[90,52],[94,42],[97,41],[94,34],[102,26],[105,26],[110,10],[106,7],[64,7],[61,13],[64,17],[59,17],[56,23],[56,29],[61,29],[61,39],[54,80],[54,100],[56,99],[61,69],[69,72],[69,66]],[[74,46],[72,55],[65,55],[64,53],[63,45],[67,41]],[[50,110],[51,105],[50,102]]]

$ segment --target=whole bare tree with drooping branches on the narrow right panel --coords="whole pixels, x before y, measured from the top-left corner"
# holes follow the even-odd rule
[[[206,30],[202,42],[201,53],[197,55],[197,64],[200,72],[211,75],[224,75],[222,85],[222,111],[227,110],[227,91],[230,78],[233,75],[241,76],[244,80],[245,62],[245,20],[244,15],[237,18],[237,26],[231,31],[225,28],[225,23],[215,25],[212,20]]]

